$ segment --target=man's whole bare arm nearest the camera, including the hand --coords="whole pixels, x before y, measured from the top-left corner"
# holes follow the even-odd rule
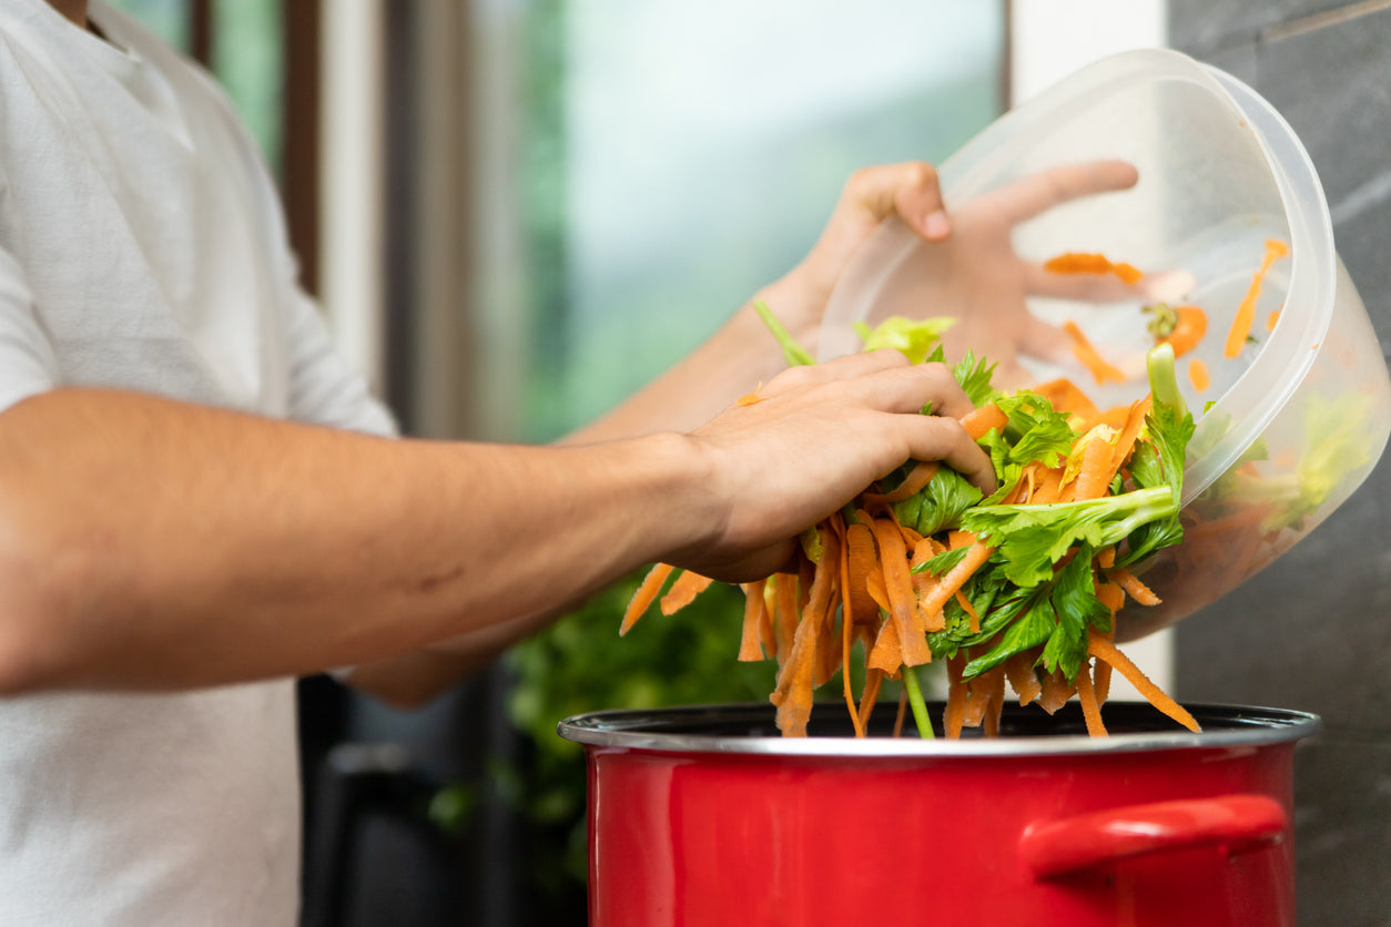
[[[908,457],[989,463],[940,368],[789,371],[690,435],[389,441],[143,395],[0,413],[0,691],[170,688],[488,648],[636,566],[739,580]],[[506,627],[512,623],[510,630]]]

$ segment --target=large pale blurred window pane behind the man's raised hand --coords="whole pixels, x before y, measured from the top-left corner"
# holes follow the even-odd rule
[[[786,272],[851,171],[940,161],[1002,111],[1002,4],[810,10],[530,6],[527,438],[602,413]]]

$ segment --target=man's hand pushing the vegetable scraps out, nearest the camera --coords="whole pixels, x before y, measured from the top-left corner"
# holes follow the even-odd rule
[[[921,414],[928,404],[935,414]],[[669,560],[716,578],[766,575],[801,530],[910,459],[942,460],[990,492],[990,460],[957,421],[972,409],[950,370],[894,350],[794,367],[690,435],[718,517]]]

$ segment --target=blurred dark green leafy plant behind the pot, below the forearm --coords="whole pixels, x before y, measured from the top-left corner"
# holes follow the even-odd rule
[[[508,655],[509,716],[523,755],[495,773],[529,831],[533,888],[556,899],[583,896],[586,877],[584,752],[556,735],[559,721],[604,709],[764,702],[773,687],[773,663],[734,659],[744,612],[737,586],[715,584],[680,614],[650,614],[619,638],[641,575],[598,592]]]

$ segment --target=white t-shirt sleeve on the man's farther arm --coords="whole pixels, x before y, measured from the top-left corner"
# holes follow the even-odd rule
[[[289,307],[289,417],[395,436],[396,423],[367,381],[334,347],[317,303],[295,288]]]

